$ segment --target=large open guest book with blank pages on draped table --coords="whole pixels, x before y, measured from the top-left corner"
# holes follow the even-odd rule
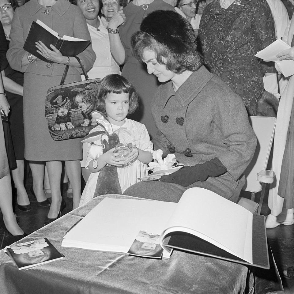
[[[62,247],[158,257],[152,243],[164,258],[175,248],[269,268],[264,216],[203,188],[186,190],[179,203],[104,198],[64,236]]]

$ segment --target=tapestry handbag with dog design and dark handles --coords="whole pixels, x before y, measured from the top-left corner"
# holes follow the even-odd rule
[[[97,125],[91,111],[101,79],[89,80],[80,58],[74,57],[80,63],[86,80],[64,85],[69,69],[67,65],[60,85],[48,90],[45,101],[48,129],[55,141],[85,137]]]

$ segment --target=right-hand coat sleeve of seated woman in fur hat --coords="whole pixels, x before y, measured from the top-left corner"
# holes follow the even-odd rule
[[[257,140],[241,98],[230,89],[218,89],[219,94],[213,95],[214,122],[226,150],[217,157],[236,181],[252,160]]]

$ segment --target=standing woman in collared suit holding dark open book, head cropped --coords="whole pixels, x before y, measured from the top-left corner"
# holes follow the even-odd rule
[[[59,36],[67,35],[85,40],[91,38],[81,10],[66,0],[30,0],[14,13],[7,59],[13,69],[24,72],[25,159],[30,161],[33,192],[38,201],[46,198],[43,190],[46,162],[52,197],[48,219],[44,223],[48,224],[60,216],[65,207],[60,191],[63,160],[73,188],[73,207],[79,204],[82,149],[80,139],[52,140],[45,119],[45,98],[49,88],[60,84],[66,65],[69,65],[66,83],[81,81],[82,71],[74,57],[63,56],[54,44],[50,48],[40,41],[31,44],[50,62],[44,62],[23,49],[32,22],[37,20],[58,32]],[[96,58],[91,45],[77,56],[85,70],[92,67]]]

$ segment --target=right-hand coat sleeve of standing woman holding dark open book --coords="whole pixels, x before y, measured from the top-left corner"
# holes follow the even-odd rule
[[[79,39],[91,40],[91,36],[85,21],[85,17],[81,12],[81,9],[77,7],[76,16],[74,18],[74,37]],[[81,59],[81,62],[86,71],[89,71],[96,59],[96,54],[93,51],[92,44],[90,44],[83,52],[77,55]],[[81,68],[77,70],[82,73]]]

